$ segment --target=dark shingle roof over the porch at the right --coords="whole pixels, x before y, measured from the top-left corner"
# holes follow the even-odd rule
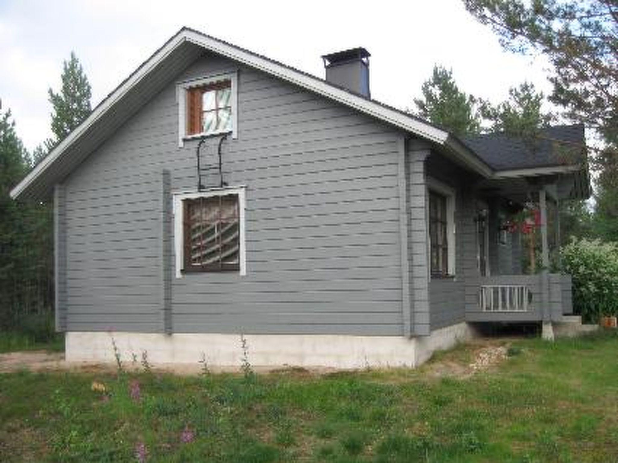
[[[548,127],[535,140],[488,133],[464,138],[464,143],[495,170],[577,164],[585,149],[583,125]]]

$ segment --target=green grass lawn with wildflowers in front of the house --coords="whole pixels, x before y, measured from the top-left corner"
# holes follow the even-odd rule
[[[618,335],[508,342],[463,376],[445,365],[478,347],[418,370],[1,374],[0,461],[617,462]]]

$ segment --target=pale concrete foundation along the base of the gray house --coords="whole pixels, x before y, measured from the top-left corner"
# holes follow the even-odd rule
[[[430,336],[244,335],[248,361],[255,367],[416,367],[439,349],[473,336],[467,323],[431,332]],[[243,349],[240,334],[67,332],[67,362],[114,362],[113,342],[122,361],[148,354],[153,365],[197,364],[238,367]]]

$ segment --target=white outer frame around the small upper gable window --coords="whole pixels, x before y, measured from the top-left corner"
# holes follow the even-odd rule
[[[187,135],[187,91],[191,88],[210,85],[213,83],[230,81],[230,106],[232,107],[232,130],[219,130],[208,133],[193,133]],[[198,79],[185,80],[176,84],[176,100],[178,102],[178,146],[185,146],[185,141],[203,136],[222,135],[232,133],[232,138],[238,138],[238,73],[228,72],[213,74]]]

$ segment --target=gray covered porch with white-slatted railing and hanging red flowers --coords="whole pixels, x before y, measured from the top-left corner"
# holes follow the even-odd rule
[[[587,190],[585,181],[564,173],[505,176],[485,182],[480,191],[481,196],[485,192],[489,211],[477,216],[476,261],[480,275],[466,282],[467,322],[561,322],[563,315],[573,313],[570,275],[551,273],[550,269],[560,267],[559,204],[586,197],[583,190]],[[519,225],[500,219],[498,198],[522,208],[533,204],[538,215]],[[510,228],[505,223],[517,230],[509,241],[499,236]],[[528,240],[522,241],[526,235]],[[504,259],[499,255],[504,250],[512,251],[512,261],[506,266],[501,265]],[[521,264],[524,257],[526,265]]]

